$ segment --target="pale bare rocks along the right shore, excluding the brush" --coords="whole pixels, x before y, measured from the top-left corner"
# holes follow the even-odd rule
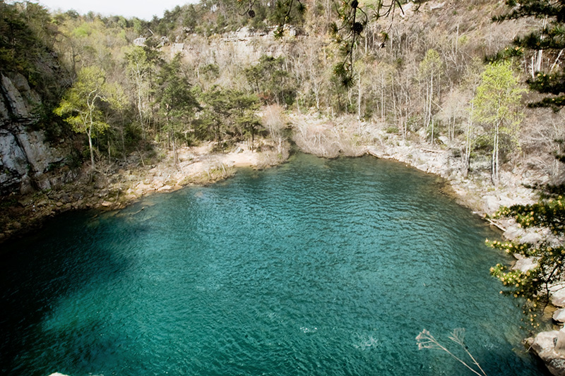
[[[398,145],[398,144],[397,144]],[[537,177],[513,172],[504,172],[503,184],[494,187],[488,183],[488,177],[474,176],[464,178],[457,169],[458,161],[450,157],[446,150],[430,150],[420,147],[392,146],[376,148],[368,147],[367,153],[379,158],[394,159],[421,171],[446,178],[453,188],[454,198],[460,205],[469,207],[476,214],[486,219],[492,226],[501,231],[501,235],[509,241],[523,243],[539,243],[548,241],[556,245],[565,243],[564,239],[554,238],[548,229],[522,229],[514,219],[493,220],[489,217],[501,206],[529,204],[537,200],[534,190],[525,185],[542,181]],[[408,157],[409,156],[409,157]],[[415,157],[416,156],[416,157]],[[535,267],[535,260],[516,256],[513,269],[527,272]],[[556,376],[565,376],[565,286],[553,286],[551,305],[544,311],[544,320],[552,322],[557,329],[540,332],[524,340],[528,351],[542,360],[547,370]]]

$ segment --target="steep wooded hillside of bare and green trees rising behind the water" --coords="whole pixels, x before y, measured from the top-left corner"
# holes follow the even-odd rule
[[[117,171],[129,161],[143,166],[147,159],[158,162],[159,154],[199,142],[213,141],[222,145],[218,150],[229,150],[234,142],[252,139],[257,133],[274,138],[278,145],[282,138],[293,138],[302,150],[328,157],[370,148],[379,155],[397,154],[405,162],[446,177],[465,181],[470,176],[488,183],[489,129],[481,124],[469,128],[470,100],[484,71],[484,56],[503,49],[539,22],[492,23],[492,16],[504,11],[504,4],[491,1],[405,4],[403,13],[397,9],[388,18],[369,20],[355,52],[356,80],[351,87],[343,87],[333,74],[342,57],[328,35],[328,21],[335,15],[327,6],[309,4],[302,22],[275,39],[274,27],[269,26],[272,20],[266,15],[254,20],[232,17],[229,22],[223,18],[225,30],[237,29],[223,34],[184,25],[186,15],[194,12],[208,23],[218,21],[221,12],[204,3],[175,8],[161,20],[145,24],[119,17],[57,14],[49,16],[54,22],[48,28],[44,11],[16,4],[10,8],[12,17],[36,15],[28,28],[20,30],[22,36],[28,35],[20,40],[31,38],[36,41],[33,46],[52,52],[48,56],[37,52],[25,64],[6,61],[0,107],[2,192],[57,189],[76,176],[68,165],[76,166],[88,155],[87,138],[76,134],[72,138],[79,142],[69,147],[69,126],[52,109],[71,85],[69,78],[87,66],[101,68],[105,79],[123,93],[119,111],[100,106],[108,128],[93,134],[96,159],[109,166],[105,171]],[[370,4],[370,13],[369,8]],[[166,35],[154,35],[153,30]],[[13,56],[20,49],[21,43],[16,42],[4,42]],[[182,59],[175,68],[170,64],[177,54]],[[432,75],[426,68],[429,56],[437,61]],[[554,56],[546,59],[544,64],[554,63]],[[167,73],[169,68],[174,68],[174,74]],[[531,71],[530,56],[515,62],[520,80]],[[44,79],[37,80],[37,75]],[[190,92],[198,106],[170,118],[162,110],[169,105],[165,90],[174,77],[181,77],[184,85],[175,90]],[[242,102],[244,98],[248,102]],[[226,103],[231,104],[226,107]],[[284,125],[283,111],[275,111],[278,120],[270,121],[278,124],[275,128],[265,118],[258,123],[258,117],[246,117],[259,113],[255,103],[294,114],[292,135]],[[503,186],[560,181],[561,167],[552,154],[560,147],[554,142],[562,136],[560,123],[559,113],[525,110],[516,134],[519,142],[507,138],[502,145]],[[44,143],[42,130],[48,131],[50,144]],[[67,146],[58,150],[53,145]],[[422,149],[446,154],[451,162],[426,167],[429,163]],[[482,183],[477,190],[480,187]],[[494,205],[491,202],[489,207]]]

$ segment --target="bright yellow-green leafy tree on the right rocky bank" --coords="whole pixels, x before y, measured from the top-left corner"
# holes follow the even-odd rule
[[[518,125],[523,119],[520,101],[524,90],[513,75],[511,63],[492,63],[482,73],[472,99],[472,116],[489,127],[492,135],[492,182],[499,182],[501,135],[517,144]]]

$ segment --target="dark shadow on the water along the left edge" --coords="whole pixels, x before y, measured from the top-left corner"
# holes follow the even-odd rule
[[[97,281],[119,279],[131,266],[128,257],[114,254],[100,239],[112,231],[112,219],[97,219],[93,212],[73,212],[50,219],[38,233],[2,245],[0,263],[0,373],[29,375],[29,368],[20,370],[29,361],[25,356],[53,362],[57,343],[78,331],[95,330],[100,323],[88,322],[74,328],[45,333],[42,321],[52,313],[59,299],[75,291],[88,289]],[[139,226],[129,232],[143,231]],[[104,265],[104,267],[100,267]],[[34,353],[39,343],[51,342],[54,353]],[[104,346],[100,346],[104,347]],[[73,349],[77,364],[88,352]],[[67,351],[67,353],[69,353]],[[53,365],[37,364],[37,375],[49,375]]]

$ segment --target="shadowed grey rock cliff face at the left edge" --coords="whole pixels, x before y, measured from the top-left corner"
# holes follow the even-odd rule
[[[0,193],[49,189],[55,181],[47,172],[66,153],[50,146],[43,131],[30,130],[41,99],[28,80],[20,73],[0,79]]]

